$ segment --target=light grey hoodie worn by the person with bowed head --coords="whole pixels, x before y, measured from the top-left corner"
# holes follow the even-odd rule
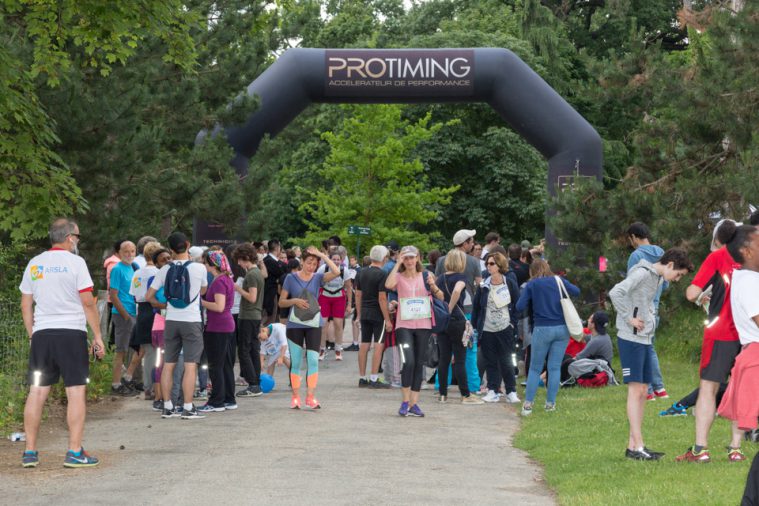
[[[664,282],[651,262],[641,260],[609,292],[609,298],[617,310],[617,336],[620,339],[641,344],[651,344],[656,330],[656,307],[654,299]],[[643,330],[634,332],[629,320],[638,308],[638,318],[643,320]]]

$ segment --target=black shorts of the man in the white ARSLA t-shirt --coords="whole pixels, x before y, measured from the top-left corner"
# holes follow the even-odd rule
[[[87,333],[73,329],[46,329],[32,334],[29,385],[48,387],[63,376],[67,387],[86,385],[90,375]]]

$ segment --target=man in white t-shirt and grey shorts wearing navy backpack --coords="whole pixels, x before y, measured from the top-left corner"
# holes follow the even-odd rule
[[[161,418],[174,418],[181,416],[183,419],[205,418],[192,404],[192,396],[195,392],[195,376],[198,370],[198,362],[203,354],[203,318],[200,312],[200,297],[208,288],[208,277],[203,264],[190,260],[190,241],[181,232],[174,232],[168,239],[169,249],[174,260],[164,265],[155,275],[153,284],[148,288],[145,299],[157,304],[155,294],[165,282],[166,275],[172,264],[187,269],[190,278],[189,304],[180,307],[178,302],[169,300],[166,305],[166,328],[164,330],[164,366],[161,373],[161,393],[163,394],[163,412]],[[167,294],[168,298],[168,294]],[[179,353],[184,352],[184,374],[182,376],[182,393],[184,406],[181,415],[174,409],[171,402],[171,387],[173,383],[174,367],[177,365]],[[190,401],[190,402],[188,402]]]

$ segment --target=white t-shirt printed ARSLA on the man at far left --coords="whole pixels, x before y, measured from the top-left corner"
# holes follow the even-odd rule
[[[45,251],[29,261],[18,287],[34,298],[32,332],[45,329],[87,331],[80,292],[93,287],[87,264],[80,256],[62,250]]]

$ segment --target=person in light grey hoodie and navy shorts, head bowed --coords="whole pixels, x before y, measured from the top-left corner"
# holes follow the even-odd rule
[[[609,292],[617,310],[617,345],[622,362],[622,378],[627,385],[627,419],[630,437],[625,457],[633,460],[659,460],[663,453],[643,444],[641,425],[646,407],[648,385],[652,380],[650,348],[656,329],[654,298],[662,283],[678,281],[691,264],[679,248],[668,250],[656,263],[641,260],[627,278]]]

